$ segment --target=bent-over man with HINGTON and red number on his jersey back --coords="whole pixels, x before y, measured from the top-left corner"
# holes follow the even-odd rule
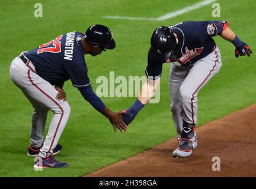
[[[110,120],[115,132],[117,129],[127,131],[120,118],[121,113],[111,112],[92,90],[84,58],[84,54],[97,56],[115,47],[110,29],[97,24],[89,27],[85,34],[73,31],[59,35],[49,43],[23,52],[12,60],[9,71],[12,82],[34,107],[28,155],[37,156],[35,169],[68,167],[67,163],[53,158],[62,149],[57,142],[71,112],[63,90],[66,80],[71,79],[84,99]],[[48,110],[53,112],[53,118],[44,139]]]

